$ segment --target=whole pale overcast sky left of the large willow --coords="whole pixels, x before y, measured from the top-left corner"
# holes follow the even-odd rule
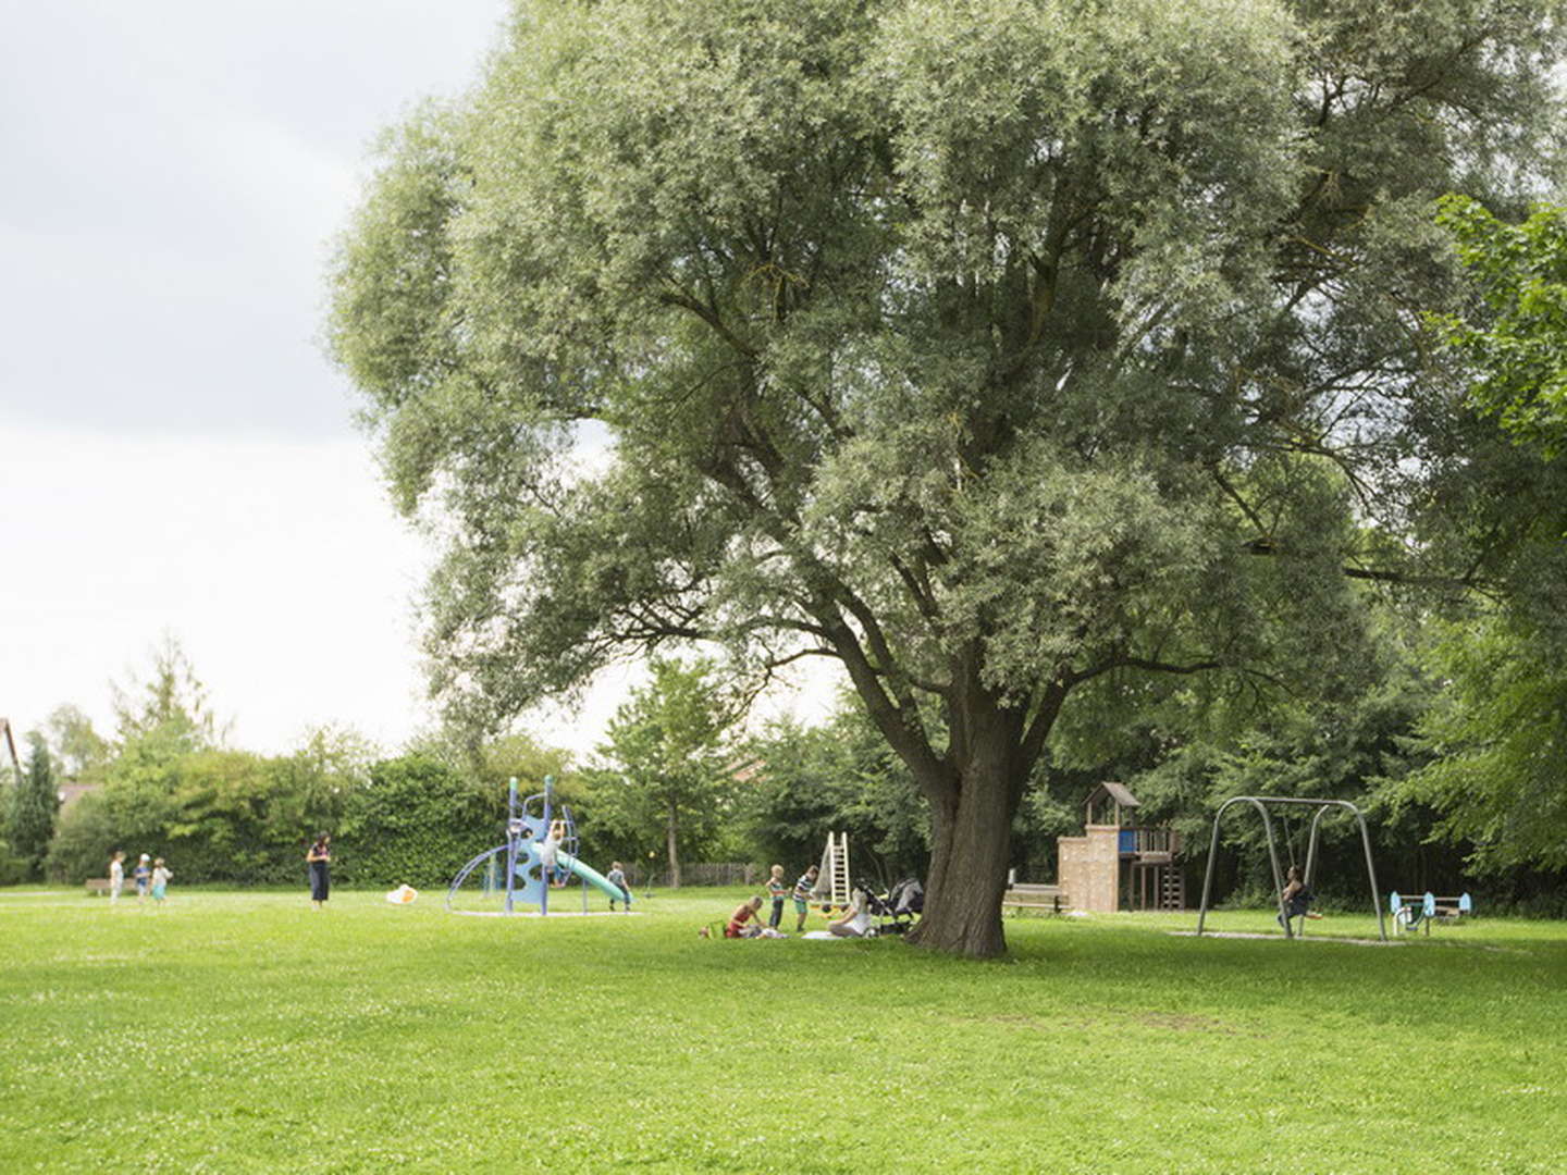
[[[232,741],[428,725],[426,555],[321,357],[378,130],[505,0],[0,0],[0,714],[185,647]],[[556,722],[555,741],[595,736]]]

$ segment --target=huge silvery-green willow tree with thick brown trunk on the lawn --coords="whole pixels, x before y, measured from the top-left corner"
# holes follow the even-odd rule
[[[436,689],[834,658],[931,801],[918,940],[1001,951],[1069,699],[1341,650],[1393,573],[1429,201],[1537,175],[1556,9],[520,2],[335,268]]]

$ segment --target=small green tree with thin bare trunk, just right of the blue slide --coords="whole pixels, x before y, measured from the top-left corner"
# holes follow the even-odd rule
[[[679,888],[682,860],[700,860],[735,816],[730,716],[707,663],[657,658],[649,671],[599,747],[603,768],[591,776],[589,827],[621,844],[658,844],[669,885]]]

